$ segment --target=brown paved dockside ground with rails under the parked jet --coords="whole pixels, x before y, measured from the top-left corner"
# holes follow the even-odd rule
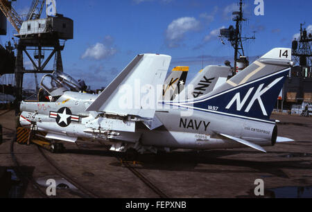
[[[1,112],[0,112],[1,114]],[[256,197],[256,179],[263,179],[265,197],[312,197],[312,117],[273,114],[278,119],[279,136],[295,142],[265,147],[268,153],[251,148],[234,150],[177,150],[163,155],[144,154],[135,165],[150,182],[168,197]],[[14,113],[0,116],[3,143],[2,167],[14,166],[10,139],[14,136]],[[79,148],[64,143],[63,154],[46,152],[60,168],[100,197],[158,197],[146,184],[121,165],[119,154],[100,143],[78,141]],[[15,143],[17,159],[28,175],[44,182],[59,179],[35,145]],[[38,197],[27,186],[22,197]],[[42,188],[44,188],[42,186]],[[83,197],[75,189],[58,189],[57,197]]]

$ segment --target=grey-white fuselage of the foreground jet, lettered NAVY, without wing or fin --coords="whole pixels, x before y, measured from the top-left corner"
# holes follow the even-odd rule
[[[143,146],[171,149],[244,147],[220,134],[231,134],[261,146],[272,145],[276,139],[275,123],[196,110],[191,116],[181,116],[180,109],[174,107],[158,109],[155,117],[162,125],[150,130],[132,120],[110,116],[96,117],[96,113],[85,111],[96,97],[97,95],[67,91],[57,102],[23,101],[20,106],[20,123],[23,127],[35,125],[35,130],[50,133],[51,138],[64,141],[74,142],[78,138],[128,141],[133,144],[139,142]]]

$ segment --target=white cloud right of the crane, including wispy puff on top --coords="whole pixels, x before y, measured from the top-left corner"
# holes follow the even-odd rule
[[[115,55],[117,53],[116,48],[110,47],[112,43],[114,42],[114,39],[107,35],[104,38],[103,43],[96,43],[93,46],[90,46],[87,48],[85,53],[81,56],[82,59],[92,59],[92,60],[103,60],[106,58],[109,58],[112,55]]]

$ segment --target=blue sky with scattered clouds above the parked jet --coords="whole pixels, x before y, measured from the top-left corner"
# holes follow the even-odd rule
[[[188,81],[209,64],[233,61],[233,48],[218,38],[218,29],[234,25],[232,12],[238,0],[62,0],[58,13],[74,21],[74,39],[62,52],[64,72],[85,79],[92,89],[107,86],[139,53],[172,56],[171,67],[189,66]],[[271,48],[290,47],[300,23],[312,30],[312,1],[263,0],[264,15],[254,15],[254,0],[245,0],[243,35],[257,39],[245,42],[250,58]],[[13,3],[19,14],[31,1]],[[45,15],[45,14],[44,14]],[[8,24],[7,37],[12,36]],[[203,59],[202,59],[203,58]],[[27,63],[27,62],[26,62]],[[32,76],[26,87],[33,87]]]

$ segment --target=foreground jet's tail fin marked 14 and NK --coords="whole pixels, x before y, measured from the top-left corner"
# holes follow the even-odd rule
[[[274,48],[200,100],[179,105],[268,120],[289,73],[291,48]]]

